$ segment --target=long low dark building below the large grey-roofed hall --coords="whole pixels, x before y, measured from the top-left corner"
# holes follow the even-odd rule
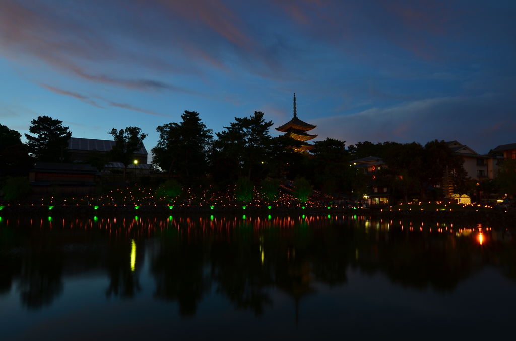
[[[95,167],[73,163],[38,162],[29,172],[34,194],[95,194],[100,173]]]

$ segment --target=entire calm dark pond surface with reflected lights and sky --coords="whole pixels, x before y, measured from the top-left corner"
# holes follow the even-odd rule
[[[356,216],[0,218],[0,339],[512,338],[513,233]]]

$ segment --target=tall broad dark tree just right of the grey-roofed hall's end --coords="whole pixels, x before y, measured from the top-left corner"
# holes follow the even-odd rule
[[[212,129],[201,122],[199,113],[185,110],[181,123],[168,123],[158,126],[157,145],[151,149],[154,157],[152,164],[168,172],[186,176],[205,174],[207,154],[212,144]]]

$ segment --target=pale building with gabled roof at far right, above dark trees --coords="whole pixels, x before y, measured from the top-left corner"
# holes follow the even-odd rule
[[[470,147],[457,141],[446,142],[455,155],[464,160],[467,175],[477,180],[492,179],[498,169],[498,158],[491,155],[480,155]]]

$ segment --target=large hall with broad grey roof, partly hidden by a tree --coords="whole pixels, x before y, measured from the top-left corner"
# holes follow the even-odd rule
[[[68,140],[68,150],[71,154],[72,161],[84,162],[88,160],[92,151],[98,151],[100,155],[106,155],[109,150],[113,148],[115,141],[110,140],[94,140],[94,139],[81,139],[81,138],[70,138]],[[138,164],[147,164],[147,149],[142,146],[140,150],[134,154],[134,159]],[[108,160],[109,162],[115,160]],[[123,166],[122,166],[123,168]]]

